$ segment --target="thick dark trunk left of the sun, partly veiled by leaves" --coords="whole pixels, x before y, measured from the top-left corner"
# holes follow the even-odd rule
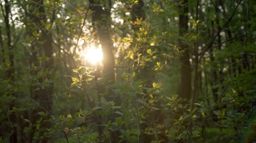
[[[44,88],[41,88],[39,85],[32,85],[30,87],[30,93],[31,98],[35,102],[39,102],[39,106],[32,110],[30,113],[29,119],[32,123],[36,124],[36,121],[40,118],[43,119],[49,119],[50,114],[52,113],[52,94],[53,94],[53,67],[54,67],[54,61],[52,58],[53,54],[53,46],[52,46],[52,34],[51,31],[46,28],[47,25],[47,18],[46,18],[46,12],[44,8],[44,2],[42,0],[33,0],[28,2],[29,4],[29,10],[26,10],[26,16],[27,20],[26,24],[27,26],[27,32],[31,37],[34,37],[34,40],[31,43],[31,61],[30,61],[30,74],[32,76],[36,75],[38,72],[44,72],[44,76],[37,77],[37,82],[42,83],[46,79],[49,80],[49,84],[45,86]],[[54,16],[54,15],[53,15]],[[52,23],[51,23],[52,24]],[[30,28],[33,27],[33,28]],[[39,33],[39,38],[36,37],[33,32]],[[45,61],[38,61],[37,56],[46,56],[47,60]],[[34,68],[36,67],[36,68]],[[38,112],[46,112],[46,117],[40,117],[38,115]],[[43,122],[40,125],[41,129],[46,129],[51,127],[51,123],[49,121]],[[30,134],[30,141],[33,141],[33,134],[35,129]],[[44,133],[44,130],[40,132],[41,134]],[[44,137],[42,139],[42,142],[49,142],[49,137]]]

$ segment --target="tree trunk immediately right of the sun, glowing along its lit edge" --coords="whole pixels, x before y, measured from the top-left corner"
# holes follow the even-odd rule
[[[90,0],[90,10],[92,11],[92,23],[94,27],[95,41],[99,40],[101,47],[102,47],[102,54],[103,54],[103,79],[106,81],[104,84],[99,86],[99,93],[103,93],[105,91],[106,85],[111,85],[115,83],[115,60],[113,54],[113,44],[110,37],[110,9],[111,9],[111,1],[108,1],[109,8],[104,8],[100,4],[99,1]],[[112,90],[109,90],[109,94],[106,95],[106,99],[108,101],[112,100],[115,101],[115,97],[112,96]],[[118,99],[117,99],[118,100]],[[101,120],[101,117],[98,117]],[[114,121],[115,115],[110,115],[108,119]],[[98,124],[98,133],[100,140],[102,139],[103,128],[101,126],[101,122],[97,121]],[[119,142],[121,138],[119,137],[121,132],[118,129],[110,131],[110,142]]]

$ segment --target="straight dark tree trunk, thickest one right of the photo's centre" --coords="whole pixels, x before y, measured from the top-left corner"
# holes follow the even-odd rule
[[[178,94],[181,98],[190,99],[191,97],[191,66],[189,62],[189,47],[183,40],[184,34],[188,30],[188,0],[182,1],[179,6],[179,47],[180,47],[180,87]]]

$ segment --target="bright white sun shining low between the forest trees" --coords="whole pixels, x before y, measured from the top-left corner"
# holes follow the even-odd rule
[[[101,45],[97,48],[94,45],[86,48],[84,51],[84,60],[93,66],[101,65],[103,60]]]

